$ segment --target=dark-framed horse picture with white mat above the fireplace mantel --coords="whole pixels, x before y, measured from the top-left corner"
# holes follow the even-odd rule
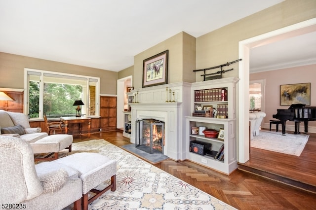
[[[168,50],[147,58],[143,62],[143,88],[167,84]]]

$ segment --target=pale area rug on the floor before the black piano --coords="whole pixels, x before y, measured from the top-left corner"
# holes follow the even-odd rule
[[[260,135],[250,141],[250,146],[280,152],[288,155],[300,156],[310,135],[285,134],[275,131],[260,131]]]

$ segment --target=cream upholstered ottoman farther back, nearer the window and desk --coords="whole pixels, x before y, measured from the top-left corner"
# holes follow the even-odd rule
[[[71,152],[71,145],[73,143],[73,135],[68,134],[56,134],[44,137],[34,143],[30,143],[34,154],[50,153],[43,158],[35,158],[35,161],[39,160],[56,160],[58,159],[58,152],[63,149],[69,149]],[[51,155],[54,154],[53,157]]]

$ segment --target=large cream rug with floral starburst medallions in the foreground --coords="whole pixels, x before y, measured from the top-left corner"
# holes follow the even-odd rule
[[[108,141],[89,140],[73,143],[73,150],[95,150],[117,160],[116,191],[109,190],[104,193],[89,205],[89,210],[235,209]],[[66,150],[60,157],[65,155]],[[107,186],[109,181],[105,182],[104,186]]]

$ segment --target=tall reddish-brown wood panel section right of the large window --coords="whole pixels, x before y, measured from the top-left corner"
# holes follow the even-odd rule
[[[117,129],[117,97],[100,97],[100,116],[101,131]]]

